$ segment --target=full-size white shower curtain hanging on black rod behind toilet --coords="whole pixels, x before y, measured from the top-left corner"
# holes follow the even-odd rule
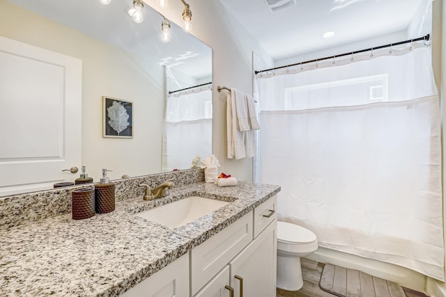
[[[319,245],[444,280],[430,49],[258,79],[260,182]]]

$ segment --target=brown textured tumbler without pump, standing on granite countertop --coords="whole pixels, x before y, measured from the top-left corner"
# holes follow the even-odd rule
[[[74,220],[91,218],[95,215],[95,189],[79,188],[71,192],[71,212]]]

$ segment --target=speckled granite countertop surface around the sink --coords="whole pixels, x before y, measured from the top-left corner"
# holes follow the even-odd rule
[[[197,183],[153,201],[116,202],[116,210],[84,220],[71,214],[0,232],[0,296],[118,296],[224,229],[280,191],[240,182]],[[232,202],[175,229],[134,216],[199,195]]]

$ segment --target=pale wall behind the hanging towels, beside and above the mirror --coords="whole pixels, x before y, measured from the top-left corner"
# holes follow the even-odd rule
[[[160,10],[153,5],[154,1],[145,2]],[[193,35],[213,49],[213,154],[220,161],[219,172],[252,181],[252,158],[226,159],[226,91],[218,93],[217,86],[252,93],[252,51],[264,61],[271,58],[220,1],[188,0],[187,3],[192,9]],[[180,1],[169,1],[169,7],[160,12],[181,26],[183,9]]]

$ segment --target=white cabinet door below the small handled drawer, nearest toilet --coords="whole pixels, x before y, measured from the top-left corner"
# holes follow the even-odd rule
[[[235,297],[276,296],[276,241],[277,219],[231,261],[231,287]]]

